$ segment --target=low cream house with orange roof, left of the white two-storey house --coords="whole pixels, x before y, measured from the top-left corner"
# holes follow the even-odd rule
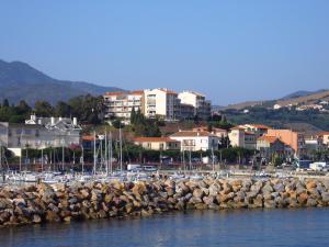
[[[170,137],[136,137],[136,145],[151,150],[180,150],[181,143]]]

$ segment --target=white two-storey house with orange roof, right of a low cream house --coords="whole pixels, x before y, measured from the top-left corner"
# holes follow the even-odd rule
[[[181,143],[181,150],[217,150],[219,145],[218,136],[205,131],[180,131],[171,135],[170,138]]]

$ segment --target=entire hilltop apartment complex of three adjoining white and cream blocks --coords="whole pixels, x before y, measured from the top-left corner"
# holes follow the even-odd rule
[[[185,91],[177,93],[166,88],[138,91],[107,92],[104,96],[105,117],[121,119],[129,123],[133,109],[148,119],[160,117],[164,121],[191,120],[195,116],[208,119],[211,102],[203,94]]]

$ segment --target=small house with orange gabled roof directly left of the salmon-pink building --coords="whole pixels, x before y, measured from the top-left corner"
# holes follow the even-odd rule
[[[262,158],[271,159],[274,155],[283,157],[286,148],[285,144],[276,136],[260,136],[257,138],[257,149]]]

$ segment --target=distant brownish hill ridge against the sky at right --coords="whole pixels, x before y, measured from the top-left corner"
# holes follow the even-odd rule
[[[229,104],[223,108],[223,110],[227,110],[227,109],[241,110],[241,109],[257,106],[257,105],[273,106],[274,104],[280,104],[280,105],[309,104],[309,103],[316,103],[317,101],[321,101],[321,100],[329,101],[328,89],[321,89],[317,91],[297,91],[277,100],[247,101],[247,102],[241,102],[236,104]]]

